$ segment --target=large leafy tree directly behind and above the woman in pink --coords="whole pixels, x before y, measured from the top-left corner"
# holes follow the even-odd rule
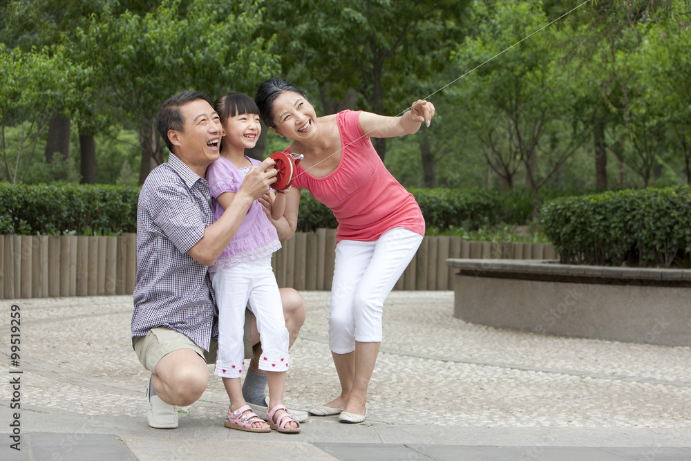
[[[267,12],[286,74],[313,88],[326,113],[349,107],[354,90],[370,111],[397,115],[448,63],[467,3],[273,0]],[[372,143],[384,160],[386,138]]]

